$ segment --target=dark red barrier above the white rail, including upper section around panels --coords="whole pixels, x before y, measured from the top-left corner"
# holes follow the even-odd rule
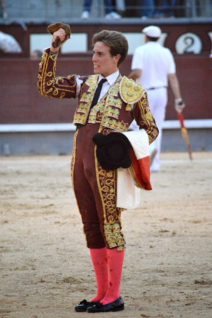
[[[187,21],[188,22],[188,21]],[[157,23],[158,25],[161,22]],[[88,75],[93,74],[91,62],[91,40],[95,32],[103,28],[121,32],[140,32],[145,24],[113,24],[113,25],[72,25],[72,32],[88,33],[88,48],[90,53],[70,54],[69,57],[60,55],[57,62],[57,74]],[[212,87],[212,59],[210,59],[211,39],[210,23],[161,23],[159,25],[168,36],[165,46],[174,54],[177,75],[180,81],[182,96],[186,101],[184,111],[186,119],[212,118],[211,87]],[[63,123],[73,119],[76,100],[57,100],[41,96],[37,90],[37,72],[39,61],[29,59],[29,35],[31,33],[45,33],[47,25],[27,25],[25,32],[20,25],[1,25],[1,31],[16,37],[22,54],[6,55],[0,53],[0,124],[6,123]],[[175,43],[185,32],[193,32],[201,38],[202,51],[200,54],[176,53]],[[18,56],[18,58],[17,58]],[[120,67],[122,75],[130,73],[131,56]],[[169,88],[169,101],[166,119],[177,119],[174,110],[174,100]]]

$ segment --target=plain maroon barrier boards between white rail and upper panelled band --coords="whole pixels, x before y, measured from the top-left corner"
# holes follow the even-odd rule
[[[176,57],[177,75],[187,107],[187,119],[207,119],[212,116],[211,70],[208,56]],[[47,98],[37,90],[38,61],[29,59],[0,61],[0,124],[63,123],[73,119],[76,100]],[[131,57],[120,67],[122,75],[130,72]],[[56,75],[93,74],[89,59],[58,58]],[[166,119],[177,119],[169,88]]]

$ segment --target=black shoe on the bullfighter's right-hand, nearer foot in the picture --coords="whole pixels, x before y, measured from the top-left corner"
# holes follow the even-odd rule
[[[124,309],[124,302],[121,296],[114,302],[103,305],[102,303],[97,303],[95,306],[88,307],[88,313],[106,313],[106,312],[119,312]]]

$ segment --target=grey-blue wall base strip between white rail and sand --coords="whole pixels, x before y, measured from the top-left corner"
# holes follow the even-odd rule
[[[68,155],[72,153],[75,131],[0,133],[0,156]],[[188,129],[192,151],[212,151],[212,128]],[[186,152],[180,129],[164,129],[162,152]]]

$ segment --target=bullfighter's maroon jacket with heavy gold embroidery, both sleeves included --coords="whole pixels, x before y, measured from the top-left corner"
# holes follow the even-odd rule
[[[50,53],[49,49],[44,51],[39,66],[38,90],[47,97],[78,97],[73,122],[74,124],[86,124],[99,75],[79,77],[83,80],[83,84],[79,96],[77,96],[77,75],[55,77],[57,56],[57,53]],[[125,132],[135,119],[138,126],[147,132],[149,143],[152,143],[158,135],[158,128],[148,105],[146,90],[125,76],[119,75],[115,83],[110,86],[106,96],[97,103],[97,107],[92,108],[89,122],[96,122],[95,115],[98,110],[102,113],[101,125],[103,127]]]

